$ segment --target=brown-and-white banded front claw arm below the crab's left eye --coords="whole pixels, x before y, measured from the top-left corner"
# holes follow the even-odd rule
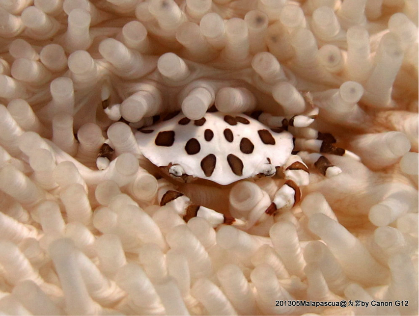
[[[233,226],[245,226],[245,222],[231,216],[226,216],[209,208],[196,205],[183,193],[177,191],[172,184],[161,182],[157,193],[160,206],[168,205],[188,222],[193,217],[205,218],[212,227],[221,224]]]

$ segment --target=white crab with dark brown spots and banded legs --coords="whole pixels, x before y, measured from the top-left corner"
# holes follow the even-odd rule
[[[170,113],[160,122],[140,128],[135,137],[142,155],[180,182],[203,179],[228,185],[261,177],[284,179],[260,222],[300,201],[300,187],[309,184],[307,164],[326,177],[341,172],[322,155],[349,153],[333,145],[335,138],[331,134],[318,132],[317,139],[307,140],[288,132],[290,126],[294,130],[309,126],[317,112],[313,108],[307,115],[285,118],[261,111],[249,115],[222,113],[213,106],[199,120],[191,120],[181,112]],[[318,153],[308,154],[307,150]],[[172,184],[165,182],[163,186],[160,205],[172,205],[185,221],[199,216],[213,227],[228,224],[249,228],[258,224],[195,205]]]

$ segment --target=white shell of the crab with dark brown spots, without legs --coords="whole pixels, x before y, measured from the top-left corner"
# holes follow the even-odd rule
[[[230,184],[267,166],[282,166],[293,150],[292,134],[251,117],[207,112],[200,120],[178,114],[135,133],[142,155],[162,167],[179,164],[187,175]]]

